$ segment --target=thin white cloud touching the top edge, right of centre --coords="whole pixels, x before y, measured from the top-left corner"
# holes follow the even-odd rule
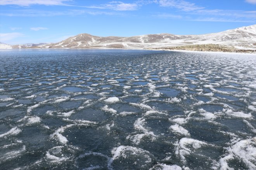
[[[203,9],[204,7],[199,7],[194,3],[190,3],[184,0],[159,0],[159,5],[161,7],[173,7],[179,10],[189,12],[194,10]]]

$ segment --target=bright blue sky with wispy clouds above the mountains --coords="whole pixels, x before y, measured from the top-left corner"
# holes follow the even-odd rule
[[[206,34],[256,24],[256,0],[0,0],[0,41]]]

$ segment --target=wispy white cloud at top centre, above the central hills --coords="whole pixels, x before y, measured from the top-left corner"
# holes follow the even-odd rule
[[[97,9],[111,9],[111,10],[119,10],[119,11],[126,11],[126,10],[137,10],[138,7],[137,3],[123,3],[120,1],[112,1],[106,4],[101,4],[99,6],[89,6],[87,8],[97,8]]]

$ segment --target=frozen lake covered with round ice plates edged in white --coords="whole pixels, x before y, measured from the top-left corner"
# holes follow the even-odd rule
[[[255,54],[0,51],[0,169],[256,169]]]

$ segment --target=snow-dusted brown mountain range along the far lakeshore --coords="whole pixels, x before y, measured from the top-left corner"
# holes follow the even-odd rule
[[[174,35],[163,33],[133,37],[100,37],[83,33],[57,43],[19,44],[14,46],[0,44],[0,48],[166,49],[199,44],[218,44],[235,49],[256,51],[256,24],[202,35]]]

